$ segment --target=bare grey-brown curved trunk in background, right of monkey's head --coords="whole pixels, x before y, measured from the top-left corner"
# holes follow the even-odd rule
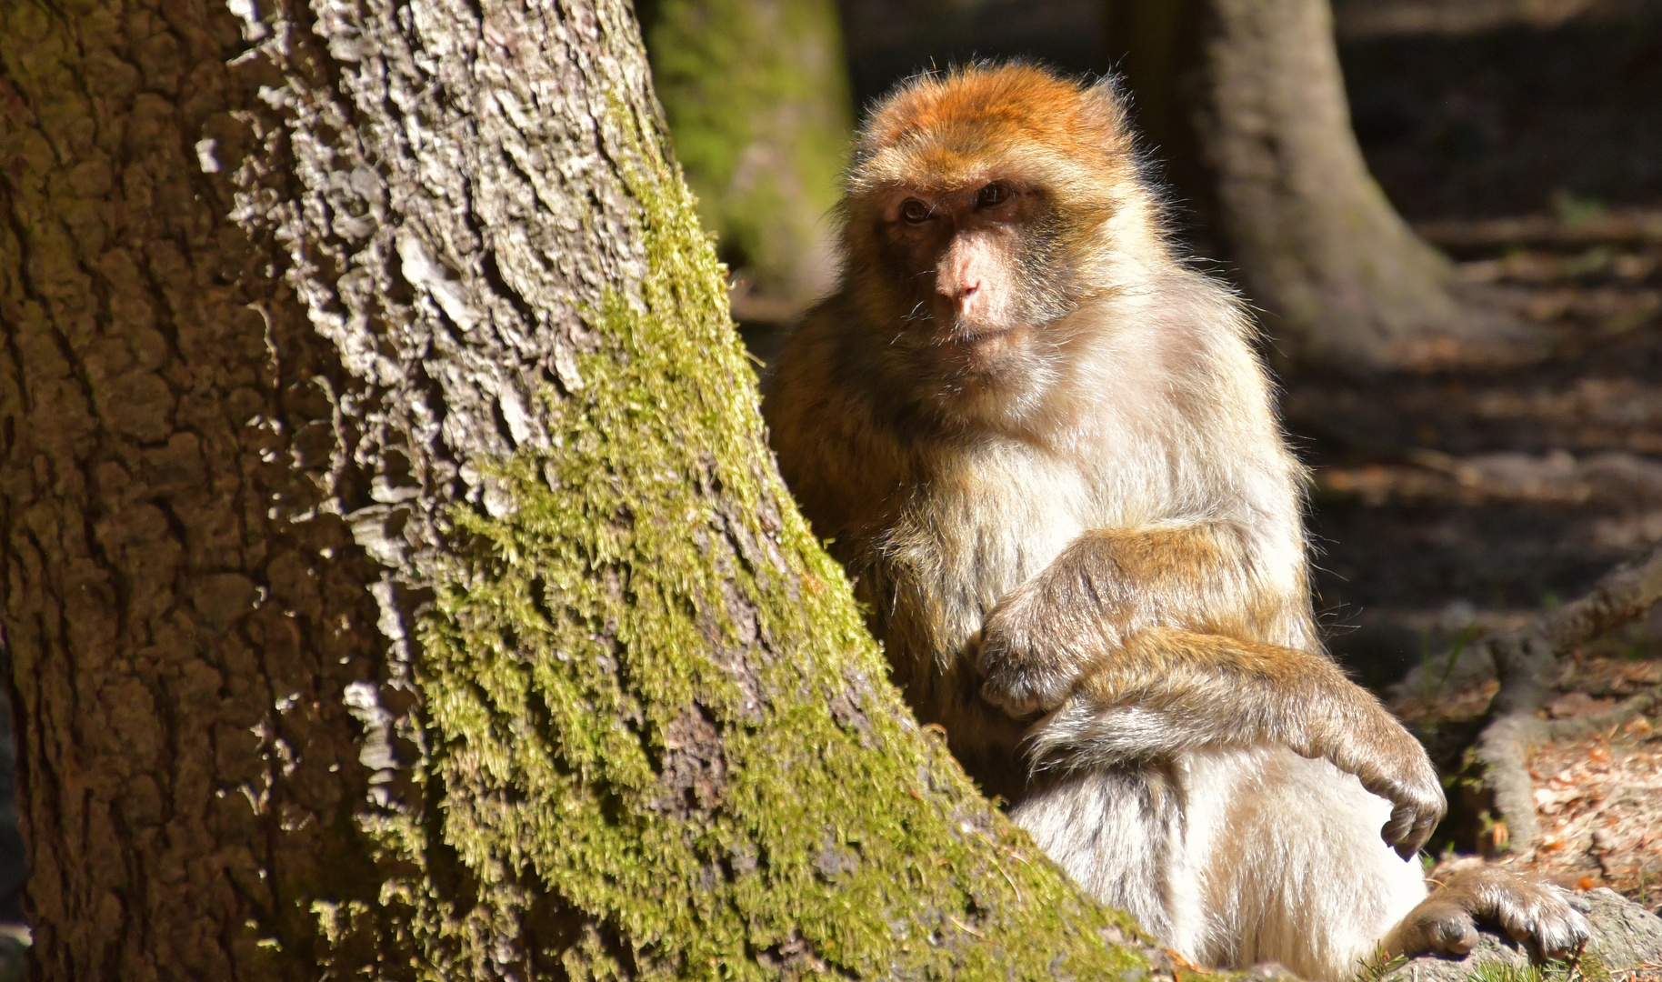
[[[1202,248],[1222,246],[1283,354],[1368,371],[1539,352],[1368,174],[1328,0],[1110,0],[1109,35]]]

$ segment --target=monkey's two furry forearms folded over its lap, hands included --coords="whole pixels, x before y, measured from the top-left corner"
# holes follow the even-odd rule
[[[1230,523],[1092,532],[987,616],[982,695],[1034,731],[1040,763],[1090,766],[1205,744],[1326,758],[1394,806],[1409,854],[1444,811],[1424,748],[1308,635],[1303,583],[1253,575]]]

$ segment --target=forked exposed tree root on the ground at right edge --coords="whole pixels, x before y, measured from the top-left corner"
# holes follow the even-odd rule
[[[1659,600],[1662,543],[1605,573],[1586,597],[1542,613],[1522,628],[1479,641],[1494,660],[1501,688],[1489,705],[1489,721],[1478,734],[1474,753],[1512,851],[1529,852],[1541,839],[1529,776],[1534,746],[1614,729],[1662,703],[1662,686],[1655,686],[1604,713],[1552,723],[1539,719],[1536,713],[1546,703],[1559,658],[1582,641],[1644,616]]]

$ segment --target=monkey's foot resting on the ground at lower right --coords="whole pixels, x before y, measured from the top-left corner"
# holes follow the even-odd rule
[[[1541,957],[1579,950],[1592,927],[1566,891],[1481,859],[1434,871],[1441,886],[1408,912],[1384,947],[1391,954],[1464,955],[1478,944],[1478,922],[1494,924]]]

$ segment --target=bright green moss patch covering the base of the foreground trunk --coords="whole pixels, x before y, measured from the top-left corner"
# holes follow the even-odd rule
[[[911,723],[773,469],[685,186],[632,191],[640,296],[593,311],[552,449],[497,467],[515,507],[455,510],[420,628],[434,809],[372,829],[416,974],[497,975],[495,937],[595,979],[1142,972]],[[317,914],[346,950],[362,911]]]

